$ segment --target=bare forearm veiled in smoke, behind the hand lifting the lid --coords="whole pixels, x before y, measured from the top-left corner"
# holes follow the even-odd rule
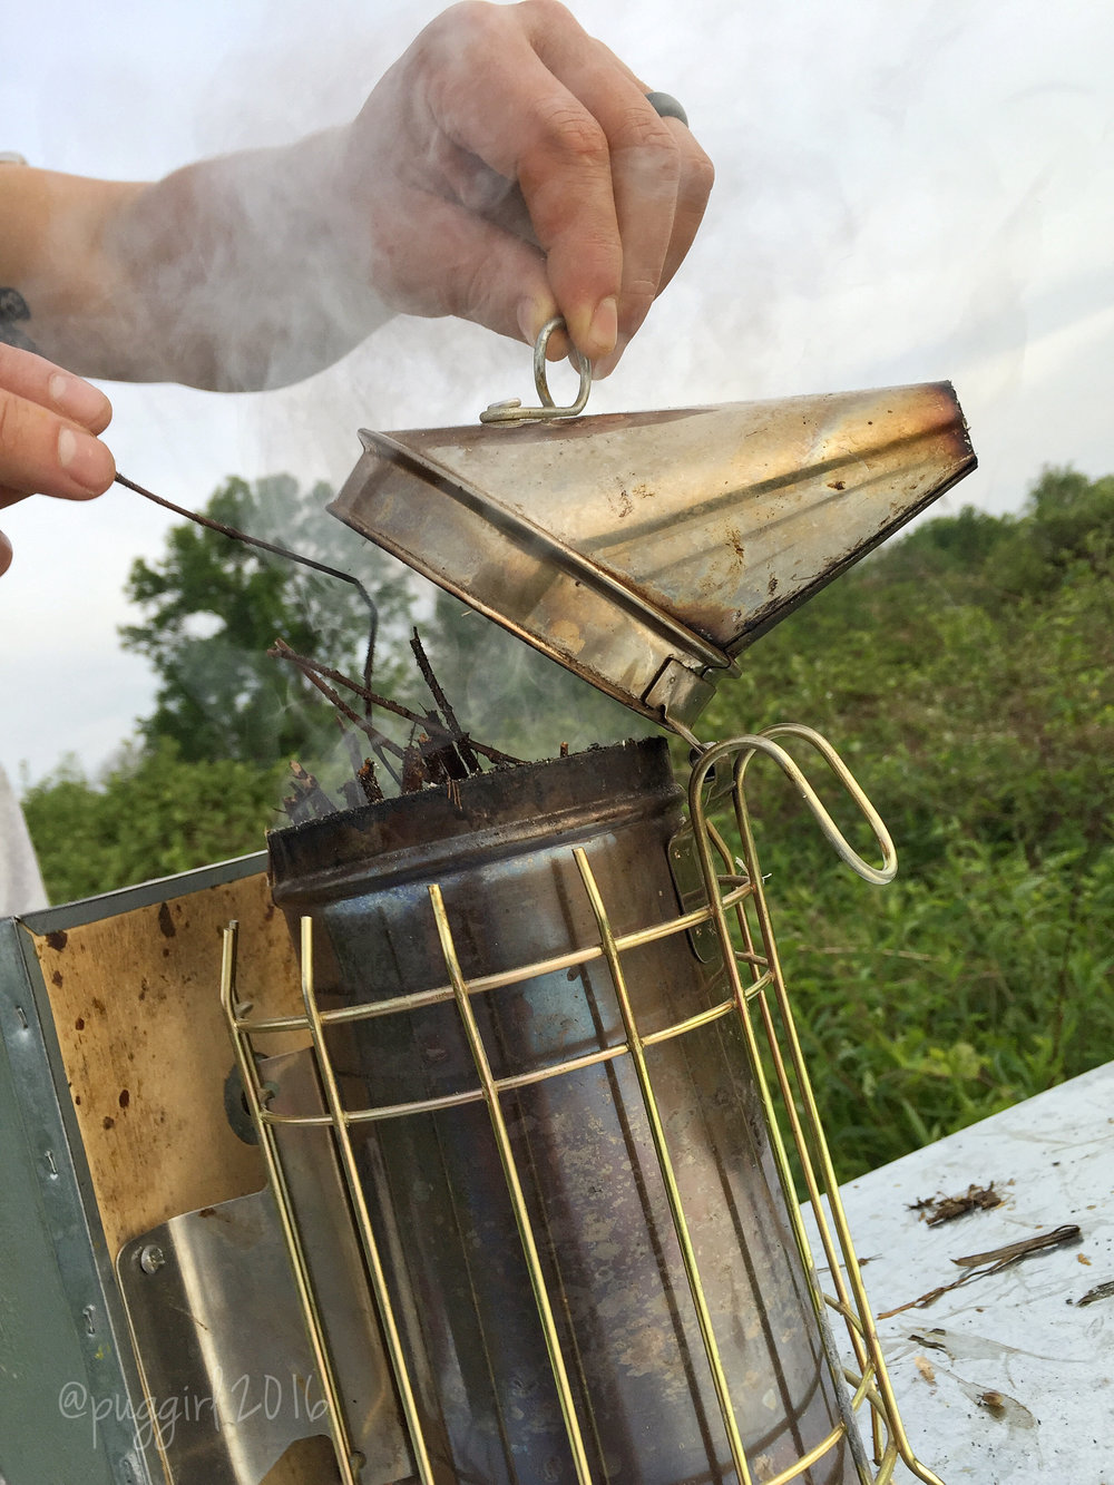
[[[12,169],[0,284],[83,376],[251,391],[336,361],[388,318],[337,223],[339,134],[203,160],[154,184]],[[7,200],[18,193],[21,200]],[[354,230],[355,229],[355,230]]]

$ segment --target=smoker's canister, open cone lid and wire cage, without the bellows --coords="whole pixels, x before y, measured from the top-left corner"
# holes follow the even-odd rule
[[[943,386],[364,443],[336,514],[694,742],[747,643],[973,465]],[[778,732],[821,750],[882,867],[842,841]],[[808,729],[701,751],[688,820],[654,741],[270,836],[304,1017],[238,1014],[232,958],[226,1004],[287,1189],[346,1485],[853,1485],[888,1478],[897,1454],[934,1481],[893,1406],[796,1048],[747,763],[766,753],[796,777],[869,879],[888,881],[893,849]],[[738,857],[713,808],[734,808]],[[267,1097],[254,1059],[263,1034],[299,1026],[319,1094],[296,1106],[281,1078]],[[830,1302],[859,1307],[854,1399],[771,1081]],[[322,1133],[374,1296],[397,1443],[373,1473],[315,1299],[322,1255],[299,1238],[304,1203],[284,1175],[294,1132]],[[853,1418],[864,1397],[882,1420],[878,1475]]]

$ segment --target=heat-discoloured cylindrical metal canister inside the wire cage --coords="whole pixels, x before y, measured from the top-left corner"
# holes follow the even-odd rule
[[[501,1084],[590,1476],[631,1485],[737,1478],[573,857],[575,846],[587,854],[619,939],[676,921],[668,846],[680,797],[654,738],[475,775],[459,797],[426,790],[270,836],[275,900],[291,924],[313,918],[325,1004],[420,998],[449,983],[431,884],[463,980],[511,980],[474,988],[469,1004]],[[576,952],[557,971],[512,974]],[[625,949],[621,962],[651,1040],[646,1068],[746,1457],[756,1481],[772,1479],[847,1421],[847,1405],[824,1362],[738,1023],[719,1016],[652,1040],[723,1001],[714,959],[701,964],[683,930]],[[330,1022],[327,1035],[346,1109],[474,1094],[349,1124],[435,1476],[575,1481],[535,1283],[456,1002]],[[847,1439],[795,1478],[851,1485]]]

